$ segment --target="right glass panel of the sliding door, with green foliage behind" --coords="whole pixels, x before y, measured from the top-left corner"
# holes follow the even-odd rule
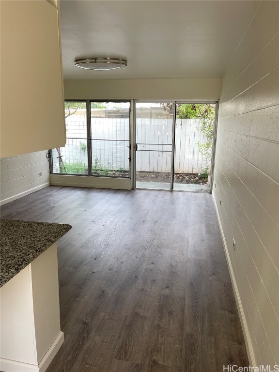
[[[176,104],[173,190],[209,192],[214,103]]]

